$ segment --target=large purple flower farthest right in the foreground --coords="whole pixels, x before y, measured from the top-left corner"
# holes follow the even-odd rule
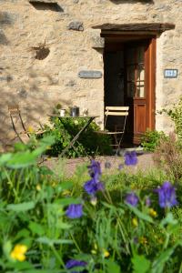
[[[176,189],[169,181],[155,190],[158,193],[158,203],[160,207],[173,207],[177,205]]]

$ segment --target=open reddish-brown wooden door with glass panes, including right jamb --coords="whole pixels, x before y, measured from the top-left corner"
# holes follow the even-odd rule
[[[129,106],[127,139],[140,143],[155,128],[156,40],[126,45],[125,105]]]

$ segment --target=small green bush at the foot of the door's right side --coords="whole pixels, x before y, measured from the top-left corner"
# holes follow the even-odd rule
[[[141,145],[146,151],[154,152],[160,140],[166,140],[167,136],[164,132],[158,132],[156,130],[147,129],[144,136],[141,139]]]

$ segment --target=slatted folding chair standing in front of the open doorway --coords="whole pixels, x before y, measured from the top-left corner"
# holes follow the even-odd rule
[[[98,131],[98,133],[114,136],[115,143],[112,147],[116,147],[116,154],[120,148],[121,141],[123,139],[125,129],[126,129],[126,117],[128,116],[129,106],[106,106],[105,110],[105,122],[104,130]],[[120,116],[122,117],[119,124],[115,125],[114,130],[107,130],[106,126],[108,123],[109,116]]]

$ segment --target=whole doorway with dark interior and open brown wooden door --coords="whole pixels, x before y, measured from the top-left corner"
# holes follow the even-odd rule
[[[156,38],[106,38],[105,106],[129,106],[125,140],[139,144],[147,128],[155,128]],[[115,129],[112,117],[109,129]]]

